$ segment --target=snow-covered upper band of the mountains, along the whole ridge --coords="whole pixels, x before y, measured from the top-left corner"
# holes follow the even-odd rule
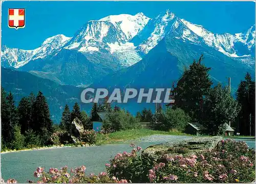
[[[214,34],[202,25],[180,19],[167,10],[155,18],[138,13],[110,15],[91,20],[72,38],[56,35],[47,38],[38,48],[32,50],[3,46],[2,62],[19,68],[32,60],[44,59],[51,54],[55,56],[61,49],[75,49],[91,54],[108,51],[120,60],[121,65],[131,66],[141,60],[141,52],[147,54],[167,34],[184,42],[206,44],[231,58],[250,57],[249,54],[240,54],[241,47],[250,52],[255,46],[255,25],[245,33]],[[144,38],[137,45],[134,42],[136,36]]]

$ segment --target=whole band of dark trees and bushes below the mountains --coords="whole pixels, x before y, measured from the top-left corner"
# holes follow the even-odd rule
[[[199,122],[207,128],[209,135],[221,135],[224,124],[231,122],[240,135],[255,133],[255,82],[250,73],[238,86],[233,98],[226,86],[213,83],[209,76],[210,68],[202,64],[203,56],[194,61],[173,86],[175,103],[166,110],[158,104],[156,113],[143,109],[136,116],[111,107],[105,98],[102,103],[94,103],[91,113],[81,111],[76,102],[71,111],[66,104],[61,121],[53,124],[46,97],[41,91],[37,96],[31,93],[23,97],[15,106],[13,95],[1,88],[2,148],[20,149],[49,145],[49,138],[57,130],[68,131],[75,118],[85,129],[93,128],[98,121],[98,112],[107,112],[103,122],[105,129],[129,129],[139,127],[138,122],[153,122],[152,128],[159,130],[177,129],[183,131],[188,122]],[[157,125],[154,122],[160,122]]]

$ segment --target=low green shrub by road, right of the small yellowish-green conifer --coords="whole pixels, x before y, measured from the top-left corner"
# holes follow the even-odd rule
[[[32,129],[25,132],[25,146],[27,148],[39,147],[41,145],[40,137]]]

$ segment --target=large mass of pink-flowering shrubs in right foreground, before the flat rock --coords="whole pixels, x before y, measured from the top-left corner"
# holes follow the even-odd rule
[[[106,168],[111,176],[132,182],[251,182],[255,178],[255,151],[245,142],[222,140],[210,151],[186,156],[185,149],[172,148],[172,152],[153,159],[134,148],[131,153],[118,153]]]

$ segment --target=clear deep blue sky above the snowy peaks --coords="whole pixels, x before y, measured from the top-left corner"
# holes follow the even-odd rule
[[[8,28],[8,8],[26,9],[24,29]],[[255,23],[254,2],[4,2],[2,44],[34,49],[57,34],[72,37],[89,20],[139,12],[153,18],[166,9],[220,34],[244,32]]]

